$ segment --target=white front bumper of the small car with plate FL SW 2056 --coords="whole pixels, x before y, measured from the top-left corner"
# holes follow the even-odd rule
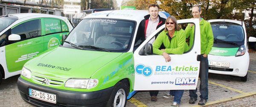
[[[231,76],[245,76],[247,74],[247,70],[249,68],[249,53],[245,53],[243,56],[215,56],[208,55],[208,60],[210,61],[218,61],[218,62],[229,62],[230,67],[215,67],[209,65],[209,73],[216,74],[224,74]]]

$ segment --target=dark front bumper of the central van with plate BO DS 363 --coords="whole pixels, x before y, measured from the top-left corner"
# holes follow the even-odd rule
[[[19,77],[17,85],[20,95],[25,101],[40,107],[105,107],[113,91],[113,87],[95,92],[60,90],[31,83],[21,77]],[[52,104],[30,97],[29,88],[56,94],[57,103]]]

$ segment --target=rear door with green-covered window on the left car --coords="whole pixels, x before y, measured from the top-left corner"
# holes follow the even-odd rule
[[[64,21],[55,18],[44,18],[42,21],[42,35],[44,35],[44,50],[61,44],[62,35],[69,33]]]

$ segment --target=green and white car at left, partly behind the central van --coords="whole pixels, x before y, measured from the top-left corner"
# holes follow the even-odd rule
[[[49,14],[0,16],[0,84],[19,75],[33,57],[61,44],[62,35],[73,29],[66,17]]]

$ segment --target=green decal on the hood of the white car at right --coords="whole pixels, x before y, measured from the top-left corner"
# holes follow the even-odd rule
[[[212,47],[209,54],[218,56],[235,56],[239,48],[217,48]]]

